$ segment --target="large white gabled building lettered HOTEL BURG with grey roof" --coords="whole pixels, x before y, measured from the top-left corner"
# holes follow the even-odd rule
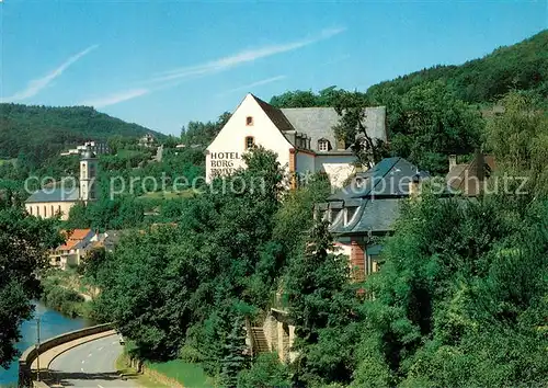
[[[242,153],[262,146],[277,153],[290,175],[324,172],[342,186],[354,172],[352,150],[334,136],[333,107],[277,109],[248,93],[206,150],[206,180],[244,167]],[[386,107],[367,107],[364,123],[373,139],[387,141]]]

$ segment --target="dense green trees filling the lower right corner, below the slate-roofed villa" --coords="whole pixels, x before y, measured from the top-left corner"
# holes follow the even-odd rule
[[[505,112],[489,123],[487,145],[500,166],[496,179],[527,178],[526,193],[515,193],[517,185],[505,189],[501,182],[500,191],[478,202],[439,201],[427,194],[411,201],[395,235],[386,240],[381,271],[365,282],[365,295],[375,297],[359,305],[351,304],[350,296],[341,298],[356,320],[339,328],[331,323],[336,330],[318,331],[317,340],[305,344],[296,364],[296,385],[536,387],[546,383],[548,184],[538,169],[546,148],[537,146],[547,138],[548,117],[520,93],[501,104]],[[500,136],[503,132],[506,136]],[[528,136],[528,141],[520,141],[521,136]],[[322,262],[328,264],[329,256],[324,254]],[[324,284],[340,284],[335,272],[329,275],[316,267],[327,275]],[[313,279],[313,269],[304,271],[308,274],[304,278]],[[289,281],[294,274],[298,272],[289,271]],[[299,276],[295,282],[304,284]],[[312,289],[320,293],[322,287]],[[297,295],[299,300],[307,293]],[[338,297],[329,300],[320,311],[340,303]],[[297,324],[318,321],[313,308],[295,301],[294,306],[304,316],[297,315]],[[335,308],[320,317],[338,319],[344,311]],[[349,370],[330,373],[338,363]]]

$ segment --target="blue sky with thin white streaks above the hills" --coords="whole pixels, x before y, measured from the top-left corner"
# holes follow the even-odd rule
[[[0,12],[2,101],[93,105],[175,135],[247,92],[365,91],[548,27],[548,0],[3,0]]]

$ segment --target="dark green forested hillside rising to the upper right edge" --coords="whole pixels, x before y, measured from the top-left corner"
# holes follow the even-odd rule
[[[387,89],[397,94],[412,87],[442,80],[460,100],[490,102],[512,89],[533,90],[548,95],[548,30],[512,46],[504,46],[480,59],[459,66],[434,66],[368,89],[375,100]]]

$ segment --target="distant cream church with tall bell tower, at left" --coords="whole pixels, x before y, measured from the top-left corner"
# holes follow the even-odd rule
[[[80,180],[73,187],[44,187],[32,194],[25,202],[26,212],[42,218],[52,218],[60,215],[62,220],[68,219],[70,208],[79,202],[88,204],[95,201],[98,158],[93,151],[88,149],[82,153],[80,160]]]

